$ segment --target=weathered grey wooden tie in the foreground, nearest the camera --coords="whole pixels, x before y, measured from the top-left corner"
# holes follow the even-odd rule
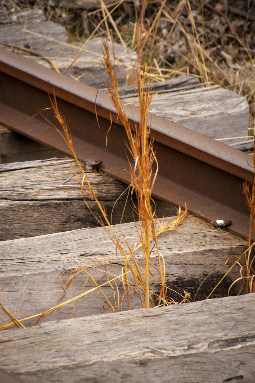
[[[27,383],[254,383],[255,294],[3,332],[1,367]]]

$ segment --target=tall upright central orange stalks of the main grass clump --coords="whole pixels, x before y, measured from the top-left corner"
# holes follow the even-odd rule
[[[142,20],[141,15],[141,20]],[[103,65],[106,73],[111,79],[111,82],[106,82],[106,87],[110,94],[111,102],[114,109],[118,113],[118,118],[121,120],[126,130],[128,138],[128,149],[131,154],[134,165],[129,162],[130,173],[131,173],[131,185],[136,193],[138,206],[136,213],[139,217],[139,226],[137,225],[137,234],[142,245],[142,254],[144,260],[145,270],[145,281],[142,282],[143,290],[145,292],[145,304],[142,304],[145,308],[150,307],[150,300],[153,301],[151,293],[149,291],[149,274],[150,274],[150,254],[155,248],[158,254],[159,260],[159,274],[160,274],[160,285],[161,290],[158,297],[159,305],[165,305],[166,294],[165,294],[165,274],[163,270],[163,259],[160,254],[157,235],[158,231],[155,225],[155,206],[154,200],[152,199],[152,189],[157,177],[158,164],[155,153],[153,151],[153,139],[150,138],[150,127],[149,126],[149,107],[152,101],[153,92],[150,85],[144,87],[144,76],[137,74],[136,82],[138,85],[137,93],[139,100],[140,109],[140,121],[139,124],[131,126],[130,121],[127,119],[123,105],[119,99],[118,94],[118,81],[116,78],[116,70],[112,67],[109,50],[106,43],[104,43],[104,61]],[[145,69],[145,64],[144,64]],[[155,169],[153,169],[153,166]],[[184,213],[185,215],[185,213]],[[177,218],[180,221],[183,216]],[[176,221],[176,223],[177,223]],[[162,226],[159,231],[162,230]],[[168,230],[166,227],[165,230]],[[150,247],[150,241],[153,240],[153,246]],[[126,258],[126,255],[125,255]],[[126,262],[128,259],[126,258]],[[134,262],[135,259],[133,259]],[[125,264],[126,265],[126,264]],[[137,269],[137,267],[136,267]],[[137,269],[138,271],[138,269]],[[133,275],[134,277],[134,275]],[[138,275],[137,275],[138,277]],[[136,278],[137,278],[136,277]]]

